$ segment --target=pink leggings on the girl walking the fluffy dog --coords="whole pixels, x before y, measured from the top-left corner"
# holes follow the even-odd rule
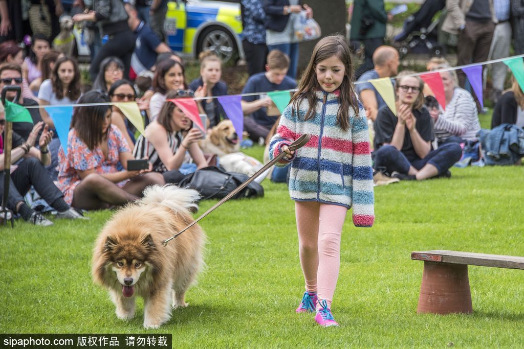
[[[340,238],[347,208],[295,201],[300,264],[305,289],[331,306],[340,269]]]

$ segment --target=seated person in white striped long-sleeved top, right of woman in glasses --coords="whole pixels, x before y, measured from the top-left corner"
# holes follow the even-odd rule
[[[450,66],[441,64],[435,69],[446,69]],[[464,143],[475,141],[481,130],[478,121],[477,106],[472,95],[459,87],[459,80],[454,70],[441,72],[444,85],[446,109],[432,107],[430,115],[435,125],[435,137],[441,147],[444,143]]]

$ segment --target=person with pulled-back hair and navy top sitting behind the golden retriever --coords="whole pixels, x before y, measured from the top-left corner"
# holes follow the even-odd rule
[[[220,80],[222,77],[222,61],[213,51],[202,51],[199,54],[200,77],[189,84],[189,88],[197,91],[199,87],[204,89],[204,95],[224,96],[227,95],[227,85]],[[226,113],[216,98],[204,99],[200,103],[205,114],[208,115],[209,127],[218,125],[222,119],[227,119]]]

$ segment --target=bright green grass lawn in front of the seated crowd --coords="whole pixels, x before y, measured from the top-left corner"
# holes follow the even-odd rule
[[[410,260],[412,251],[524,255],[524,167],[452,173],[377,187],[371,229],[348,217],[333,302],[340,328],[294,313],[303,292],[294,206],[286,185],[266,180],[264,198],[227,202],[202,220],[207,267],[188,292],[190,306],[148,332],[172,333],[173,347],[521,346],[522,271],[471,266],[474,314],[416,313],[423,263]],[[215,202],[202,202],[200,213]],[[134,320],[118,320],[91,279],[93,243],[111,215],[1,228],[1,332],[146,333],[143,302]]]

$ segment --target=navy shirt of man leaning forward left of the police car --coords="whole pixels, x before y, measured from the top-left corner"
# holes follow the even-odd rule
[[[135,51],[133,51],[131,57],[131,66],[138,75],[145,70],[151,69],[151,67],[155,65],[158,55],[155,49],[161,41],[155,32],[144,22],[140,22],[135,30],[135,34]]]

